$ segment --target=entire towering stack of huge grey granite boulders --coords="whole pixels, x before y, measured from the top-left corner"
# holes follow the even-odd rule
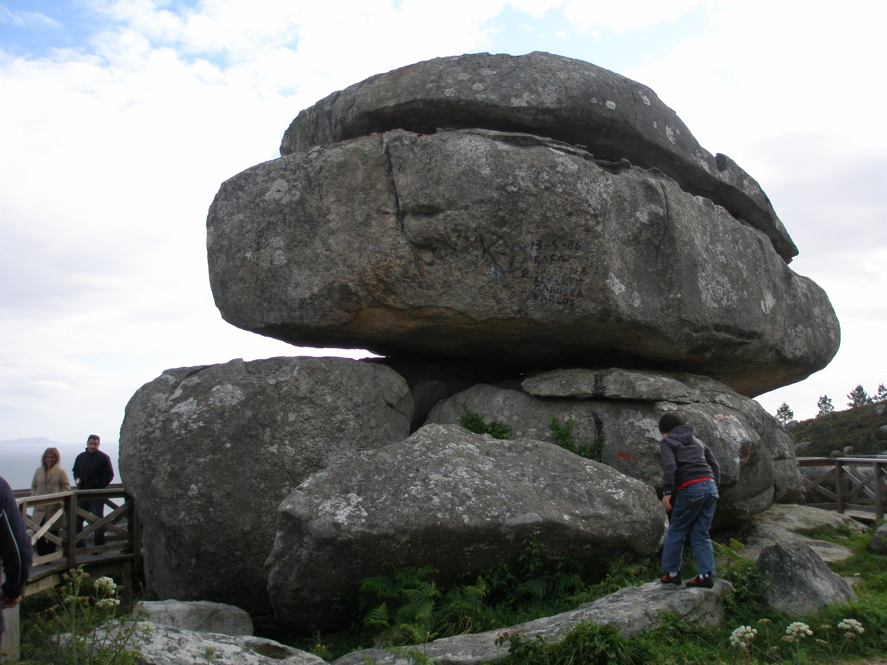
[[[654,555],[674,409],[721,463],[718,523],[801,498],[791,437],[751,398],[828,364],[835,313],[760,186],[652,90],[548,53],[433,59],[302,111],[280,154],[210,207],[216,306],[384,357],[137,392],[121,473],[161,598],[334,627],[335,594],[388,561],[445,583],[531,536],[586,567]]]

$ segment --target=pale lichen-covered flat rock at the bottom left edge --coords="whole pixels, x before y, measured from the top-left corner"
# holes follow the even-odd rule
[[[146,638],[139,649],[150,665],[207,662],[219,665],[325,665],[324,660],[313,653],[282,645],[272,639],[196,632],[161,625],[154,627],[154,634]],[[214,649],[216,657],[210,659],[207,649]]]

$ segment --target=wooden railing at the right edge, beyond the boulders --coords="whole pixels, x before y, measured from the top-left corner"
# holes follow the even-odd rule
[[[799,466],[830,466],[814,480],[804,478],[805,492],[816,492],[829,499],[828,503],[808,504],[844,512],[857,510],[874,512],[879,520],[884,516],[884,488],[887,486],[887,456],[860,456],[845,458],[797,458]],[[834,479],[835,491],[823,487]],[[849,487],[848,487],[849,486]]]

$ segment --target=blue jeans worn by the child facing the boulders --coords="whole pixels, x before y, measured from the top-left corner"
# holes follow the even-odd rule
[[[678,492],[678,498],[671,506],[671,521],[663,544],[663,570],[666,573],[680,570],[684,539],[690,534],[699,575],[715,574],[715,554],[711,550],[709,528],[717,501],[718,486],[715,481],[695,482]]]

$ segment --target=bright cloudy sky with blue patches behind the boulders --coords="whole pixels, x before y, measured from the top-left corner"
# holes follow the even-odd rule
[[[825,6],[825,5],[823,5]],[[887,4],[766,0],[0,2],[0,439],[115,441],[169,367],[329,355],[219,317],[207,208],[305,106],[422,59],[550,51],[653,88],[755,176],[828,292],[799,418],[887,382]],[[355,352],[348,355],[360,356]],[[342,355],[346,355],[343,353]]]

